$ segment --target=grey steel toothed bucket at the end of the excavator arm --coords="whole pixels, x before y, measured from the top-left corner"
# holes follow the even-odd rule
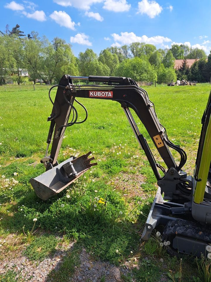
[[[90,163],[91,160],[94,160],[94,157],[88,159],[90,154],[91,152],[78,158],[72,156],[40,176],[31,178],[30,183],[37,196],[42,200],[49,199],[69,186],[93,165],[96,165],[97,163]],[[72,163],[76,174],[69,175],[68,177],[68,172],[66,173],[66,171],[69,163]]]

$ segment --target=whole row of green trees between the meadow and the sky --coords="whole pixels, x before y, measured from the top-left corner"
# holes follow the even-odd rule
[[[173,68],[175,58],[183,59],[178,70]],[[188,58],[198,61],[189,68]],[[75,57],[72,46],[62,38],[49,41],[35,31],[25,35],[19,25],[10,31],[7,25],[4,32],[0,31],[0,84],[11,77],[22,83],[22,70],[28,70],[34,83],[37,79],[45,83],[59,81],[64,74],[125,76],[138,82],[167,83],[176,79],[205,82],[211,76],[211,54],[207,60],[203,50],[184,44],[164,50],[153,44],[134,42],[103,49],[99,55],[87,48]]]

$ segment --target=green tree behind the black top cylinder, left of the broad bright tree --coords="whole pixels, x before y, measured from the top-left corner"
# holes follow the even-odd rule
[[[119,59],[116,54],[112,54],[108,49],[104,49],[100,52],[98,61],[103,65],[108,66],[110,73],[108,75],[114,76],[115,70],[119,66]]]

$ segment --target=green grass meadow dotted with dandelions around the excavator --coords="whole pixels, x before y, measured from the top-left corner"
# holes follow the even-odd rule
[[[210,88],[209,84],[145,87],[169,139],[185,149],[188,161],[183,169],[189,174],[193,174],[195,166],[201,117]],[[53,93],[55,95],[55,91]],[[171,269],[177,273],[180,260],[161,250],[156,236],[148,242],[140,241],[156,192],[156,179],[120,104],[107,100],[80,101],[88,110],[88,120],[66,130],[58,161],[91,150],[98,166],[67,190],[43,202],[36,196],[29,179],[45,171],[39,161],[45,154],[50,125],[47,117],[52,110],[48,92],[0,91],[0,260],[24,254],[31,261],[42,261],[61,242],[68,244],[75,240],[76,253],[84,247],[93,259],[120,265],[131,257],[138,257],[133,263],[140,268],[131,271],[137,282],[161,281],[161,276],[166,279],[162,281],[174,281],[167,278],[167,272]],[[83,110],[79,105],[77,109],[83,120]],[[137,117],[135,120],[160,160],[144,126]],[[179,159],[174,152],[173,156]],[[160,163],[164,165],[162,160]],[[103,198],[106,204],[98,203],[96,197]],[[39,229],[31,235],[34,218],[38,219],[34,230]],[[68,259],[72,266],[69,271],[74,273],[77,256],[68,254],[64,262]],[[67,268],[61,266],[59,271],[58,275],[49,274],[52,281],[65,281]],[[181,281],[203,281],[198,280],[200,275],[196,261],[184,258]],[[0,275],[0,280],[2,277]],[[122,279],[131,281],[130,276]]]

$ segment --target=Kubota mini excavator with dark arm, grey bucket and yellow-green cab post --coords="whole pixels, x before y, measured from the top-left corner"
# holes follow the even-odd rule
[[[92,84],[73,83],[73,81],[78,83],[79,80],[88,80]],[[53,102],[50,91],[54,87],[57,87],[57,92]],[[49,98],[53,108],[48,117],[50,129],[47,137],[47,150],[45,157],[41,160],[46,172],[30,179],[37,196],[43,200],[48,199],[69,186],[90,167],[96,165],[96,163],[91,163],[94,157],[88,158],[91,152],[77,158],[72,156],[60,164],[57,162],[66,128],[85,122],[88,117],[86,108],[76,98],[117,101],[124,110],[141,149],[147,156],[158,184],[142,239],[148,240],[152,231],[160,226],[159,228],[163,230],[162,240],[170,241],[170,245],[166,248],[171,255],[188,254],[200,257],[203,254],[207,257],[206,246],[211,244],[211,92],[202,117],[202,130],[192,177],[182,170],[187,160],[186,152],[168,139],[165,127],[161,125],[156,116],[154,104],[149,100],[147,92],[140,88],[133,79],[64,75],[59,84],[54,85],[51,89]],[[86,112],[83,121],[77,121],[78,113],[73,105],[74,102],[82,106]],[[147,140],[139,132],[130,109],[135,111],[146,127],[167,169],[156,162]],[[69,122],[71,112],[73,117]],[[51,141],[51,152],[48,155]],[[169,148],[176,150],[180,155],[179,164],[176,164]],[[162,172],[162,177],[159,170]]]

